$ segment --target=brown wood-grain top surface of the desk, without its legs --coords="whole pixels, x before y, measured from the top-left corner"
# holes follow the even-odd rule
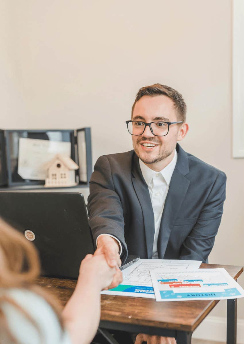
[[[225,268],[235,280],[243,272],[243,267],[231,265],[201,264],[200,268]],[[65,305],[76,281],[41,277],[38,283],[52,290]],[[101,321],[194,331],[217,303],[218,300],[156,302],[153,299],[101,295]]]

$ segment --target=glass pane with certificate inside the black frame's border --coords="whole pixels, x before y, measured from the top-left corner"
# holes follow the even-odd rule
[[[52,146],[55,155],[66,144],[65,152],[75,160],[73,130],[5,130],[5,136],[9,186],[44,184],[39,166]]]

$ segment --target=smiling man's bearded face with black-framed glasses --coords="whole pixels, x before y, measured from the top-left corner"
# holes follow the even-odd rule
[[[126,121],[136,155],[153,171],[161,171],[172,161],[177,141],[182,140],[188,131],[188,125],[183,121],[186,110],[183,99],[180,105],[184,115],[177,116],[175,104],[168,96],[145,95],[134,103],[132,120]],[[181,131],[178,123],[184,123]]]

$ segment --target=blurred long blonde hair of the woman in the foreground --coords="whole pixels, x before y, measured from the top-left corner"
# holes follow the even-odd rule
[[[0,288],[8,290],[10,288],[29,289],[41,295],[54,309],[60,323],[61,306],[58,301],[47,293],[43,288],[37,286],[37,278],[40,275],[40,261],[34,245],[17,230],[0,218]],[[18,343],[9,331],[7,320],[1,309],[5,302],[11,303],[16,309],[21,311],[26,318],[38,328],[38,324],[30,318],[28,313],[22,309],[14,300],[1,292],[0,296],[0,343],[6,337],[10,343]],[[40,331],[40,330],[39,330]],[[40,333],[41,335],[41,333]],[[2,338],[2,339],[1,339]]]

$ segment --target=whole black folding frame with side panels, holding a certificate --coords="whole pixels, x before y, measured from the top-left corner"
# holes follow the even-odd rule
[[[46,166],[56,154],[79,165],[76,183],[87,187],[92,173],[91,128],[0,129],[0,185],[44,187]]]

